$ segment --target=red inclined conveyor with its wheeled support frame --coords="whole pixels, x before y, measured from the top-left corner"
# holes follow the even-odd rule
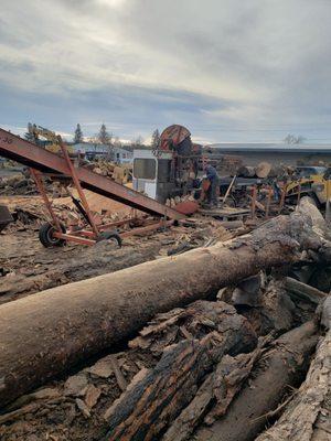
[[[96,174],[83,166],[76,168],[61,138],[58,138],[58,142],[62,155],[52,153],[21,139],[20,137],[0,129],[0,155],[30,166],[39,192],[41,193],[50,213],[50,222],[43,225],[40,229],[40,239],[44,246],[60,246],[64,245],[66,241],[94,245],[96,241],[107,238],[114,238],[117,240],[118,245],[120,245],[121,237],[157,229],[184,217],[178,211],[118,184],[108,178]],[[67,229],[63,224],[61,224],[44,189],[43,175],[49,175],[54,180],[65,179],[73,182],[79,195],[79,201],[76,200],[76,202],[74,202],[88,224],[88,228],[84,227],[73,230]],[[118,220],[107,225],[98,224],[88,207],[83,189],[90,190],[97,194],[131,206],[132,208],[148,213],[151,216],[157,217],[157,219],[146,227],[118,234],[114,228],[125,225],[126,223],[132,223],[132,218]]]

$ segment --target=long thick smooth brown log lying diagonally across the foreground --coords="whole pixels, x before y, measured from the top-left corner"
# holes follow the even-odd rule
[[[319,251],[309,215],[0,306],[0,406],[137,332],[158,312],[205,299],[260,269]]]

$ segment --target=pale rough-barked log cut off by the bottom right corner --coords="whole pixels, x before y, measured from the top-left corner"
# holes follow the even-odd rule
[[[331,439],[331,297],[323,309],[329,329],[320,338],[306,380],[279,420],[256,441],[328,441]]]

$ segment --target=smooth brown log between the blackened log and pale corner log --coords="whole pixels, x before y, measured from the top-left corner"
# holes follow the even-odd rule
[[[296,385],[298,374],[307,367],[317,341],[317,325],[313,322],[307,322],[279,337],[275,347],[253,369],[249,383],[241,390],[225,416],[211,427],[199,429],[194,439],[254,440],[264,428],[269,412],[277,408],[287,387]]]

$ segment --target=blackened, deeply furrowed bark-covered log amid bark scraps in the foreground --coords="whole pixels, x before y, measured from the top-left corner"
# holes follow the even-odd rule
[[[248,322],[228,308],[224,304],[224,320],[215,331],[200,341],[169,346],[158,365],[121,395],[107,412],[109,431],[105,440],[154,440],[192,400],[224,354],[235,355],[256,345]]]

